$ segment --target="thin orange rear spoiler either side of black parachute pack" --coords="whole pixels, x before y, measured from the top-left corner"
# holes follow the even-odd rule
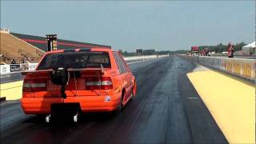
[[[103,66],[101,68],[69,68],[68,71],[83,71],[83,72],[96,72],[98,74],[104,74],[105,70]],[[22,75],[26,74],[44,74],[47,72],[52,72],[53,69],[50,70],[30,70],[30,71],[23,71]]]

